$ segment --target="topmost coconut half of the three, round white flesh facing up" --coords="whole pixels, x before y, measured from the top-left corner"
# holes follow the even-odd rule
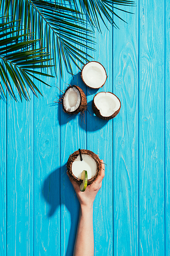
[[[81,78],[88,87],[97,89],[105,84],[107,74],[102,64],[97,61],[91,61],[84,65]]]

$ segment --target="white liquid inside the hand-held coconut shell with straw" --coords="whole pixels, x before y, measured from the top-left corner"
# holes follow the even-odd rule
[[[75,177],[81,179],[82,172],[87,171],[88,179],[95,176],[97,172],[96,161],[87,154],[82,154],[83,161],[80,160],[80,155],[72,163],[72,173]]]

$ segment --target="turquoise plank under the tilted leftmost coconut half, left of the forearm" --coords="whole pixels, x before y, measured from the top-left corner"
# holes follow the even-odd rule
[[[77,8],[79,8],[79,6],[77,6]],[[78,39],[76,40],[79,41]],[[79,46],[79,49],[86,51],[86,49],[82,49],[81,46]],[[76,62],[78,63],[78,61]],[[81,63],[78,64],[80,66],[82,65]],[[72,68],[75,74],[74,77],[68,74],[64,66],[63,78],[60,77],[60,90],[66,90],[68,84],[71,84],[78,85],[85,92],[86,86],[83,84],[80,77],[80,70],[78,70],[73,63]],[[60,97],[61,96],[62,92]],[[86,149],[86,124],[82,121],[81,125],[80,113],[70,117],[69,114],[63,111],[62,105],[60,105],[60,138],[61,255],[73,255],[79,217],[79,201],[66,174],[66,164],[71,153],[79,148]]]

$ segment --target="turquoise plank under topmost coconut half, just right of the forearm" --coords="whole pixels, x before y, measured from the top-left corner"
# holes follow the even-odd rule
[[[95,256],[113,255],[113,122],[96,117],[91,108],[92,99],[98,92],[113,90],[113,28],[106,19],[104,21],[109,30],[101,22],[102,32],[96,30],[95,33],[96,52],[93,57],[105,67],[108,78],[99,90],[87,90],[88,108],[91,113],[91,116],[87,113],[87,149],[98,154],[106,164],[102,188],[94,202]]]

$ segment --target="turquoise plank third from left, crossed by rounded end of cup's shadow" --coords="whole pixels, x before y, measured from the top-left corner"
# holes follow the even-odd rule
[[[52,87],[36,81],[43,97],[34,97],[34,255],[53,256],[60,254],[60,80],[39,79]]]

